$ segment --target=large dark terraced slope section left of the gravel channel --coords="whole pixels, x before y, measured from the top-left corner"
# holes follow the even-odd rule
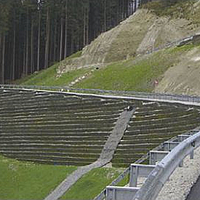
[[[0,90],[0,152],[55,165],[97,160],[123,100]]]

